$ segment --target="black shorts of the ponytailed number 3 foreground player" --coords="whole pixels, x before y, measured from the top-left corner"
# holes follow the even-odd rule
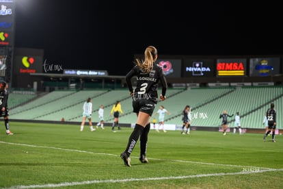
[[[139,113],[144,112],[146,114],[152,115],[156,103],[148,99],[138,99],[133,101],[133,112]]]

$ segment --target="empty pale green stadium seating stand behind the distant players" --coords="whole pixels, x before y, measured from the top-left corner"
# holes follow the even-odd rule
[[[159,90],[159,94],[160,92]],[[275,103],[275,109],[278,112],[283,111],[283,86],[169,88],[166,96],[165,101],[157,103],[157,108],[163,105],[172,113],[172,115],[165,116],[165,124],[182,125],[182,111],[185,105],[191,105],[192,126],[195,127],[220,127],[219,114],[226,109],[228,114],[240,112],[242,127],[263,129],[263,116],[271,102]],[[126,89],[55,90],[42,97],[23,100],[21,105],[18,105],[18,102],[14,108],[11,108],[10,118],[60,121],[64,117],[65,121],[81,122],[82,105],[87,97],[92,98],[94,123],[98,121],[98,108],[103,104],[105,105],[105,125],[111,125],[113,117],[109,114],[116,101],[121,101],[124,112],[119,122],[135,123],[136,116],[132,112],[132,99]],[[228,121],[230,127],[234,126],[234,117],[229,118]],[[278,129],[282,128],[282,122],[283,117],[278,114]]]

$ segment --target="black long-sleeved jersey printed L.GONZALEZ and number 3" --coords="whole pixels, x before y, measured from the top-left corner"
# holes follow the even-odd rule
[[[133,91],[131,78],[136,76],[137,86]],[[133,92],[133,99],[150,99],[157,103],[158,84],[161,81],[162,95],[165,96],[167,90],[167,81],[164,72],[158,64],[154,64],[150,73],[144,73],[139,66],[134,66],[126,75],[126,84],[130,92]]]

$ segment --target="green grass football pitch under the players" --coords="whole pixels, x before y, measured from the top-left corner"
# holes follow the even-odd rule
[[[283,138],[217,131],[151,130],[148,164],[139,143],[125,166],[131,128],[10,122],[0,132],[0,188],[282,188]]]

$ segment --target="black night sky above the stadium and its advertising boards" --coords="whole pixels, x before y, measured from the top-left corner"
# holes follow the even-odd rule
[[[125,75],[148,45],[159,55],[278,55],[282,15],[269,2],[16,0],[15,47],[109,75]]]

